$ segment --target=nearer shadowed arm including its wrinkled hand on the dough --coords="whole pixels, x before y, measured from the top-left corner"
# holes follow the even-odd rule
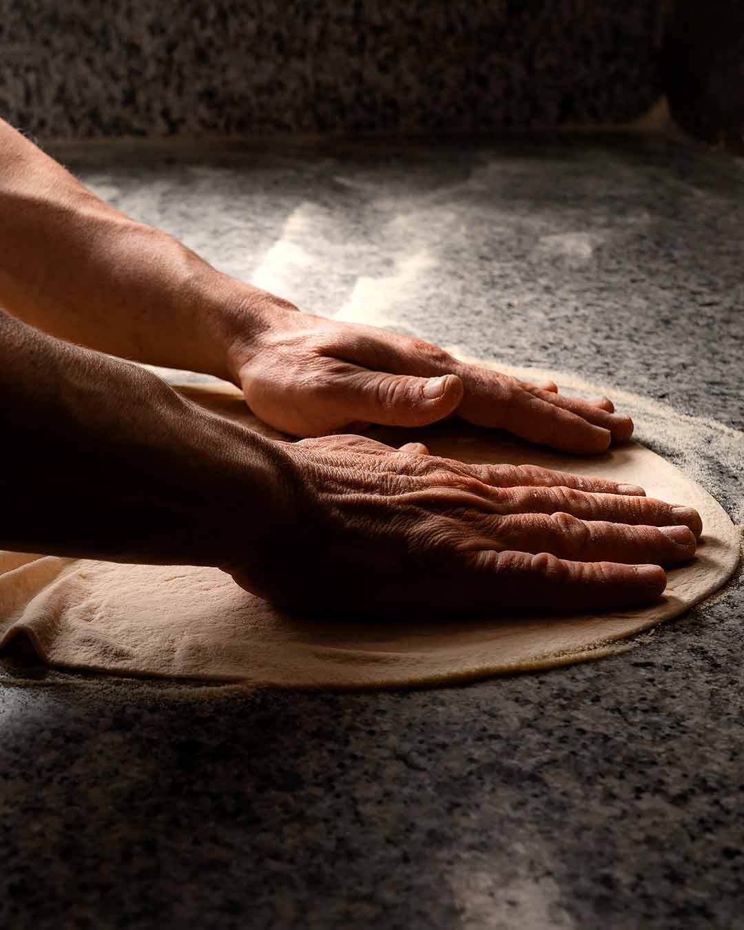
[[[700,532],[696,512],[597,478],[269,440],[5,312],[0,398],[0,546],[217,565],[301,611],[644,603],[664,588],[654,563],[689,559]]]

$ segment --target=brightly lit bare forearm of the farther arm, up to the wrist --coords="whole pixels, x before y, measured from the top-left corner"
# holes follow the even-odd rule
[[[126,217],[0,120],[0,306],[53,336],[228,378],[271,299]]]

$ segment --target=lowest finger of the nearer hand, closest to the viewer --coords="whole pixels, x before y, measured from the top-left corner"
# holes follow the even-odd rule
[[[505,607],[618,609],[658,601],[667,585],[659,565],[572,562],[547,552],[480,551],[471,565],[473,598]]]

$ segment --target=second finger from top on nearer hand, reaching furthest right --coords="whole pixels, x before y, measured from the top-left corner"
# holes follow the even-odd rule
[[[499,489],[495,498],[506,513],[569,513],[579,520],[642,526],[686,526],[699,538],[700,515],[692,507],[679,507],[656,498],[595,494],[571,487],[512,487]]]

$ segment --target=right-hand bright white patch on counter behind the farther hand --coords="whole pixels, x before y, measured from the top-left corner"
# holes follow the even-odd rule
[[[407,299],[423,272],[436,263],[424,250],[396,259],[395,274],[357,278],[351,295],[334,319],[369,326],[400,326],[401,321],[395,316],[396,302]]]

